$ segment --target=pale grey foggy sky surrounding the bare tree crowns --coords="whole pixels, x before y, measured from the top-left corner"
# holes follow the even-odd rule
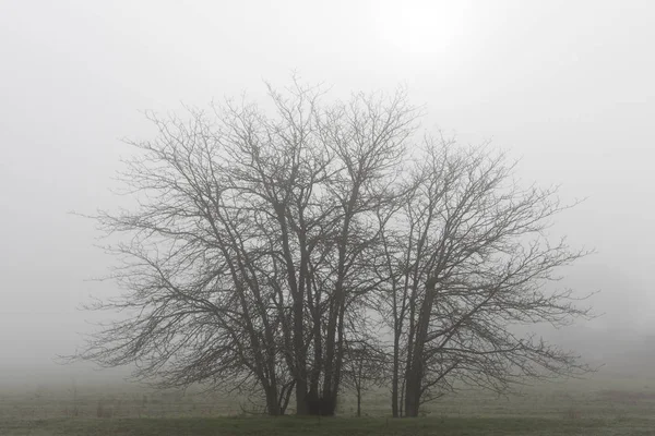
[[[526,182],[586,197],[553,231],[596,249],[562,286],[600,291],[604,315],[544,334],[655,364],[653,23],[645,0],[1,2],[0,378],[122,374],[53,361],[98,319],[80,304],[116,292],[88,280],[111,258],[69,213],[124,204],[120,138],[153,135],[144,110],[257,99],[291,71],[334,97],[405,85],[424,129],[491,140]]]

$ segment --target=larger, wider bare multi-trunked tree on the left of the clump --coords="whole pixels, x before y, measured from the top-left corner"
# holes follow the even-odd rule
[[[105,326],[83,359],[138,364],[159,385],[255,387],[267,412],[333,414],[347,313],[376,290],[369,220],[392,201],[388,175],[415,111],[405,95],[357,94],[321,106],[320,88],[270,89],[274,117],[228,100],[189,121],[151,116],[154,141],[122,181],[135,210],[100,213],[126,293],[95,308],[129,316]]]

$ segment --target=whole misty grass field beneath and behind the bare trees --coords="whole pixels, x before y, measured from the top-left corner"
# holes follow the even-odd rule
[[[364,417],[344,396],[334,419],[245,415],[249,402],[130,385],[0,388],[0,435],[654,435],[655,380],[592,377],[497,397],[468,391],[427,404],[417,420],[389,419],[369,393]]]

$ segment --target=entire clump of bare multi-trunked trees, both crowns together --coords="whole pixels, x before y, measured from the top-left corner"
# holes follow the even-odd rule
[[[291,397],[298,414],[330,415],[344,377],[381,359],[361,322],[377,310],[393,327],[394,416],[455,378],[498,388],[535,364],[582,368],[510,327],[586,313],[539,288],[584,254],[541,235],[555,191],[522,190],[502,156],[442,142],[412,164],[419,112],[403,90],[323,94],[294,81],[269,87],[269,110],[150,116],[158,135],[130,142],[121,173],[138,206],[94,217],[127,238],[107,247],[124,293],[93,307],[126,316],[79,358],[135,363],[165,387],[247,390],[272,415]]]

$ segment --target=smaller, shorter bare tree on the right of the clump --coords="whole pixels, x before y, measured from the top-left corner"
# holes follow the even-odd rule
[[[556,189],[522,189],[513,168],[485,147],[425,142],[382,256],[394,416],[416,416],[421,402],[453,389],[455,380],[501,391],[522,376],[588,370],[513,329],[588,315],[570,290],[544,287],[557,280],[557,268],[587,254],[547,239],[550,218],[567,206]]]

